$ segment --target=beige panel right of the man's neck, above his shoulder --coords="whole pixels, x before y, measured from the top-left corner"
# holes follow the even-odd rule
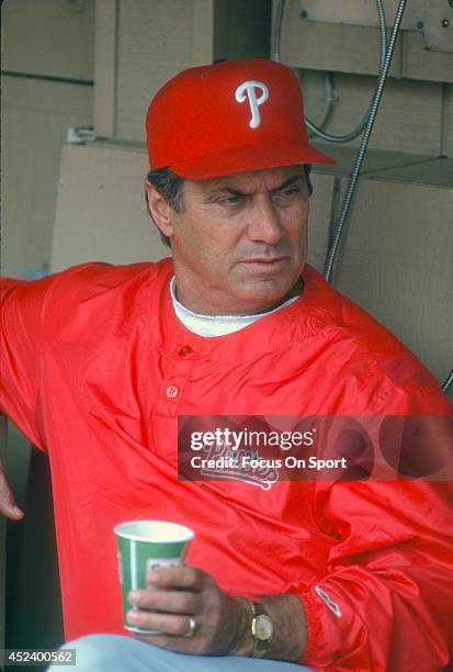
[[[361,181],[333,283],[441,381],[453,367],[453,190],[390,179]]]

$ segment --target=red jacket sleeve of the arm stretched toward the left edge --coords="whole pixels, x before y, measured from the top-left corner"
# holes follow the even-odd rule
[[[0,411],[38,448],[45,440],[36,421],[43,359],[42,315],[54,276],[2,279],[0,318]]]

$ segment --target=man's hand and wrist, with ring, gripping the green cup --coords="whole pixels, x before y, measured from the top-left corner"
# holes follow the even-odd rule
[[[139,639],[183,653],[251,656],[251,613],[244,597],[222,591],[214,578],[193,567],[161,568],[147,576],[148,589],[129,593],[131,625],[159,635]],[[275,636],[269,657],[297,661],[305,647],[305,616],[294,595],[262,598],[274,621]],[[191,637],[191,618],[195,629]]]

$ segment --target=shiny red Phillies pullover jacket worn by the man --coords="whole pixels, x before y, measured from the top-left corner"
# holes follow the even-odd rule
[[[170,260],[7,280],[2,408],[48,452],[67,638],[118,632],[112,528],[194,528],[188,561],[237,595],[296,593],[319,670],[432,672],[453,641],[445,482],[177,479],[178,415],[449,414],[392,334],[306,267],[292,305],[203,338]]]

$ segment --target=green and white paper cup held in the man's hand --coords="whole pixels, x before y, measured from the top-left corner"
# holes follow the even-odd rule
[[[132,632],[156,635],[157,630],[145,630],[127,623],[126,614],[134,608],[127,595],[134,589],[147,587],[146,574],[150,570],[183,564],[194,533],[189,527],[166,520],[131,520],[116,525],[113,531],[118,548],[124,627]]]

